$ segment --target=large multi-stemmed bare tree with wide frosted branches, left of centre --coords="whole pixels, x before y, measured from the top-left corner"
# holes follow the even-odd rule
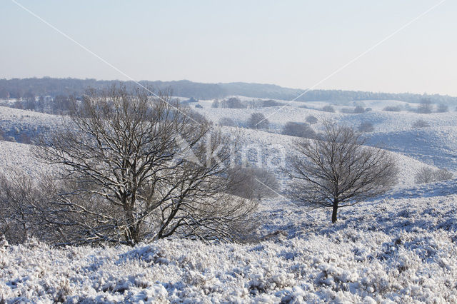
[[[69,243],[229,240],[247,227],[255,203],[224,191],[231,138],[171,103],[122,86],[89,91],[41,141],[36,156],[62,166],[69,185],[53,213]]]

